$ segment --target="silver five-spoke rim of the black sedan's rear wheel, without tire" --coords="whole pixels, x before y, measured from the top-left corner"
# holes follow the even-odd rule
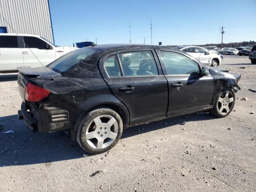
[[[116,139],[118,134],[118,122],[110,115],[100,115],[86,129],[86,142],[95,149],[103,149]]]

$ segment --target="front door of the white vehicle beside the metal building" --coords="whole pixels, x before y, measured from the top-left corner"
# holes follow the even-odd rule
[[[54,47],[34,36],[23,36],[25,46],[22,48],[24,66],[39,67],[48,65],[56,59]],[[40,62],[42,63],[40,63]]]

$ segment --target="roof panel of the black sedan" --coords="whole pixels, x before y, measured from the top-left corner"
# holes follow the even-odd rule
[[[146,44],[100,44],[100,45],[92,45],[88,46],[92,48],[97,48],[100,50],[108,50],[108,49],[129,49],[129,48],[168,48],[168,49],[174,49],[170,46],[158,46],[158,45],[146,45]]]

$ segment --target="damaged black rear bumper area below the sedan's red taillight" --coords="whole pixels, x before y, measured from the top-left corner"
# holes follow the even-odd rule
[[[47,107],[40,104],[22,102],[21,110],[18,110],[18,117],[23,120],[30,130],[36,132],[54,132],[72,128],[69,112],[57,107]]]

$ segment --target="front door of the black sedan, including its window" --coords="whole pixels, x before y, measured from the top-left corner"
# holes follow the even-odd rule
[[[178,116],[208,108],[212,101],[214,80],[202,76],[201,64],[178,51],[158,50],[169,86],[168,116]],[[205,67],[204,67],[205,68]],[[205,68],[207,71],[207,69]]]

